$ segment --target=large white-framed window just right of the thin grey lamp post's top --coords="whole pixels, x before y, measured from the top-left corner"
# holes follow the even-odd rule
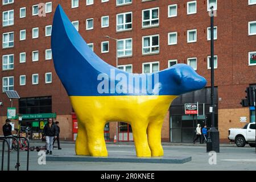
[[[118,57],[131,56],[133,54],[133,40],[121,39],[117,41]]]

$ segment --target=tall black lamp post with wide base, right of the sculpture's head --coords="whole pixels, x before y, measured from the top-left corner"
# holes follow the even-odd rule
[[[212,126],[207,131],[207,152],[215,151],[220,152],[220,138],[219,138],[219,132],[215,128],[214,123],[214,113],[215,113],[215,107],[214,107],[214,12],[213,12],[213,6],[210,7],[211,13],[210,13],[210,79],[211,79],[211,92],[210,92],[210,112],[212,113]]]

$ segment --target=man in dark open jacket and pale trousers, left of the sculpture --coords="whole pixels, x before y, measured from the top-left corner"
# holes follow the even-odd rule
[[[57,138],[57,130],[56,126],[52,121],[52,118],[48,119],[48,122],[46,125],[44,125],[44,138],[46,138],[46,154],[52,154],[52,148],[53,148],[53,139]]]

